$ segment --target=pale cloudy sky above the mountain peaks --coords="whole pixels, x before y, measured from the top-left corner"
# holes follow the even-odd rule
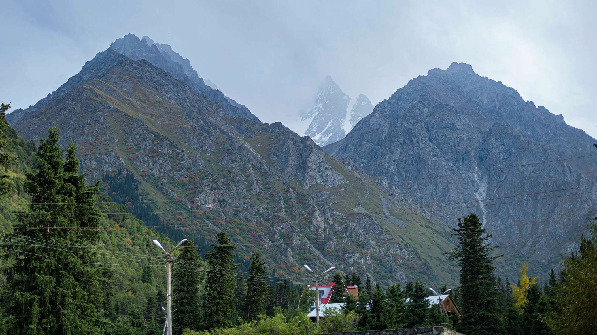
[[[35,104],[134,33],[170,44],[263,122],[292,125],[327,75],[376,105],[457,61],[597,138],[595,1],[0,0],[0,8],[0,101],[13,108]]]

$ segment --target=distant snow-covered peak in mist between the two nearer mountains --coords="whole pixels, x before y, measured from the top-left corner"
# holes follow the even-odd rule
[[[304,134],[323,146],[343,139],[372,110],[371,101],[364,94],[352,100],[332,77],[327,76],[319,86],[314,106],[301,111],[299,117],[309,124]]]

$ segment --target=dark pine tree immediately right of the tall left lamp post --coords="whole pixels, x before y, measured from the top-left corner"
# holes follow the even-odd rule
[[[190,271],[189,268],[197,268],[203,260],[192,240],[181,244],[181,250],[172,273],[172,300],[176,304],[172,320],[174,334],[182,334],[185,328],[199,330],[201,324],[199,288],[203,274],[194,269]]]

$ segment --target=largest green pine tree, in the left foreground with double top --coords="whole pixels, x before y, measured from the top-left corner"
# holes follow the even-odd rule
[[[11,334],[94,334],[103,303],[100,271],[90,244],[97,240],[95,194],[78,174],[71,143],[60,150],[58,130],[40,139],[36,168],[27,173],[31,204],[15,225],[22,246],[9,252],[7,310]],[[41,229],[40,229],[41,228]]]

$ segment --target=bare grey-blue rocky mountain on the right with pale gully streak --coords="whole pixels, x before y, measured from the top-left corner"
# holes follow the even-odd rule
[[[452,63],[381,101],[324,147],[386,178],[451,225],[477,213],[507,266],[541,274],[573,247],[597,209],[597,142],[513,88]]]

